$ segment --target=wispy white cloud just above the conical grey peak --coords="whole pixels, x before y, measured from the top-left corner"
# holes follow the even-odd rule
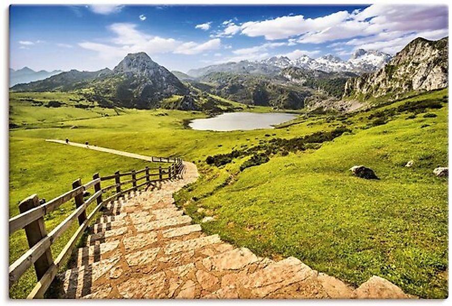
[[[103,59],[121,59],[128,53],[146,52],[149,55],[174,53],[194,55],[207,50],[218,49],[221,46],[219,38],[203,43],[180,41],[174,38],[153,36],[136,29],[133,23],[113,23],[108,29],[115,34],[111,43],[81,42],[79,46],[93,50]]]

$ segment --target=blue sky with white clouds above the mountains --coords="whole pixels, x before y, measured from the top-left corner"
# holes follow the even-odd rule
[[[11,6],[10,67],[113,68],[146,52],[170,70],[284,55],[347,60],[358,48],[395,54],[448,35],[444,5]]]

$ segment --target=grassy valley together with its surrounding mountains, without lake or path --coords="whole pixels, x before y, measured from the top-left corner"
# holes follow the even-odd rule
[[[147,165],[44,139],[181,157],[200,177],[175,194],[176,205],[206,234],[258,256],[296,257],[352,287],[378,275],[409,294],[446,298],[448,179],[433,173],[448,163],[445,42],[414,40],[395,57],[358,50],[347,62],[279,57],[187,73],[135,53],[112,70],[17,84],[9,216],[33,193],[50,199],[78,177]],[[220,114],[289,111],[272,129],[191,128]],[[354,176],[355,165],[378,180]],[[47,215],[48,229],[72,206]],[[9,246],[11,264],[28,249],[25,235],[11,235]],[[23,298],[34,283],[29,269],[10,296]]]

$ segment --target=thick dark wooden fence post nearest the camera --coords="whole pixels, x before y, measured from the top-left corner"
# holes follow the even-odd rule
[[[25,213],[35,207],[39,206],[39,198],[36,194],[26,198],[19,204],[20,213]],[[28,246],[31,248],[36,243],[38,243],[42,238],[47,236],[47,231],[45,229],[44,218],[41,217],[31,222],[25,228],[25,235],[27,236]],[[50,247],[45,250],[40,258],[35,262],[36,276],[39,279],[49,270],[50,266],[53,264],[52,251]]]

